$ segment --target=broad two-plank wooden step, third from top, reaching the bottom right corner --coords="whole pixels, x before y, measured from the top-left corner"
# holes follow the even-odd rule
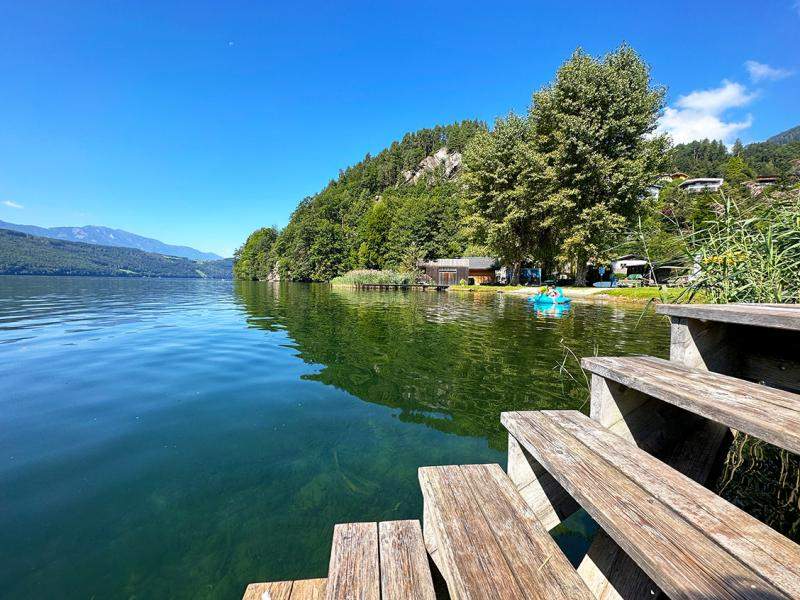
[[[502,422],[673,600],[800,597],[800,546],[585,415]]]

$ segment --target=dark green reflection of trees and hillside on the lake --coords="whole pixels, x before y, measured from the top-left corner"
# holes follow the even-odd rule
[[[285,329],[300,357],[321,365],[312,379],[399,408],[403,421],[487,437],[501,450],[500,412],[583,404],[582,385],[558,371],[564,346],[583,356],[595,345],[619,353],[615,340],[633,340],[639,353],[663,354],[666,344],[658,317],[646,317],[657,327],[638,329],[638,312],[608,307],[537,318],[503,295],[251,282],[237,282],[235,295],[251,326]],[[582,381],[574,361],[568,366]]]

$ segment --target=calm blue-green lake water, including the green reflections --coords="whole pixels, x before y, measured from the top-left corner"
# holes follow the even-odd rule
[[[420,517],[417,467],[505,466],[501,411],[581,407],[564,346],[665,356],[668,328],[503,295],[0,277],[0,597],[324,576],[335,523]],[[556,535],[575,557],[592,531]]]

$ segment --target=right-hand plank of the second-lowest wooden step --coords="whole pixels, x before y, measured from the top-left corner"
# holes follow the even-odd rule
[[[384,521],[378,535],[382,600],[434,600],[419,521]]]

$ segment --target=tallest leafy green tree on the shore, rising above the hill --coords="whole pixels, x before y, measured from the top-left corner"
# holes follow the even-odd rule
[[[637,214],[663,167],[668,140],[654,135],[664,90],[629,46],[602,59],[576,50],[533,96],[526,185],[561,257],[586,282],[587,261]]]

